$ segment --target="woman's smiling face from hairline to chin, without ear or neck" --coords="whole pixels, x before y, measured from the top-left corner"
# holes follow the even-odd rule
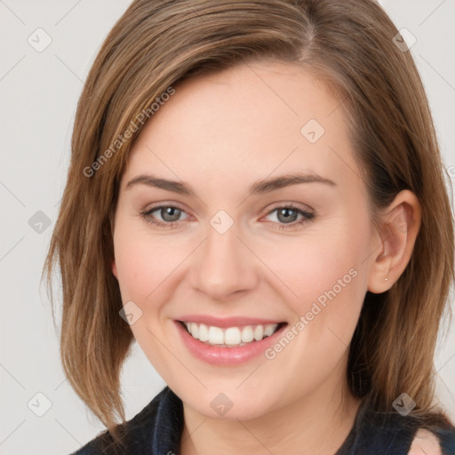
[[[134,337],[206,416],[323,403],[346,387],[380,252],[340,101],[283,63],[174,88],[116,209],[113,273]]]

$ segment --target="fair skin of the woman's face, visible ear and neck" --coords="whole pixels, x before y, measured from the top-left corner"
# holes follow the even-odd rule
[[[332,454],[359,406],[347,389],[347,353],[366,291],[383,292],[406,267],[421,209],[403,191],[374,228],[365,183],[347,140],[344,112],[314,76],[263,61],[190,78],[146,124],[128,158],[116,208],[112,270],[149,361],[184,403],[181,453]],[[300,132],[316,119],[325,132]],[[257,180],[311,172],[335,185],[302,183],[249,196]],[[196,196],[127,183],[154,173],[187,182]],[[178,205],[173,228],[157,210]],[[314,214],[287,224],[276,208]],[[224,210],[224,234],[210,221]],[[278,228],[284,225],[283,229]],[[355,269],[305,330],[273,360],[237,366],[196,359],[173,320],[196,315],[267,317],[290,326]],[[386,280],[387,278],[387,280]],[[220,417],[212,400],[233,403]]]

